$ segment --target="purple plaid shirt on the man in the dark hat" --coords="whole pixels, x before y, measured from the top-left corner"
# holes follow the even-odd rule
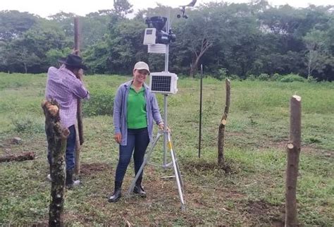
[[[89,92],[82,81],[67,68],[50,67],[47,72],[45,98],[56,99],[60,106],[61,124],[68,128],[76,123],[78,99],[89,99]]]

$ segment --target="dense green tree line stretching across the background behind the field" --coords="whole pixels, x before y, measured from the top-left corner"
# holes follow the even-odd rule
[[[128,0],[114,0],[110,10],[80,17],[81,54],[87,73],[129,74],[136,61],[161,71],[164,56],[147,54],[142,44],[144,20],[166,16],[176,41],[170,46],[170,71],[247,78],[266,73],[294,73],[334,80],[334,6],[293,8],[267,1],[248,4],[202,4],[177,18],[179,8],[158,5],[128,18]],[[49,18],[19,11],[0,11],[0,71],[45,73],[73,48],[74,13]]]

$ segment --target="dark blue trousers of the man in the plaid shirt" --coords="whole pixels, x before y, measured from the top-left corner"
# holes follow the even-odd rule
[[[67,141],[66,141],[66,170],[70,170],[74,168],[75,160],[74,160],[74,152],[75,152],[75,126],[71,125],[68,127],[68,130],[70,130],[70,135],[68,135]],[[51,165],[51,151],[48,150],[47,152],[47,159],[49,161],[49,164]]]

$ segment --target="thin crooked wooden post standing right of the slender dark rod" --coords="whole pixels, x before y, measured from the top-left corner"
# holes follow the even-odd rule
[[[230,80],[226,78],[226,100],[225,100],[225,110],[221,117],[221,123],[219,123],[218,128],[218,164],[224,163],[224,142],[225,142],[225,125],[226,119],[228,118],[228,110],[230,109],[230,97],[231,97],[231,85]]]

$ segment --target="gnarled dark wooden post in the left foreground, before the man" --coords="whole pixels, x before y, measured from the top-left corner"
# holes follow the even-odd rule
[[[45,132],[51,152],[51,202],[49,226],[63,226],[63,202],[65,192],[65,150],[70,131],[60,123],[59,105],[56,101],[42,102],[45,116]]]

